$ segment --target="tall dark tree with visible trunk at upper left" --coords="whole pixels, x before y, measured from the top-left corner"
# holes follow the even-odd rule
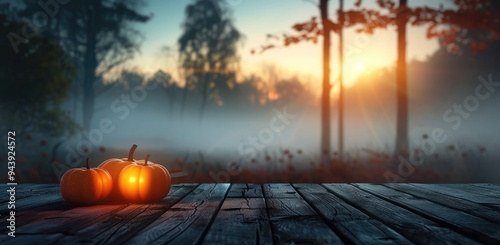
[[[22,16],[32,17],[39,11],[39,1],[24,0]],[[96,83],[110,70],[131,59],[141,40],[132,23],[145,23],[150,17],[138,12],[143,1],[72,0],[45,28],[38,31],[54,37],[78,68],[78,91],[82,94],[82,121],[91,127],[97,91]],[[102,86],[101,86],[102,88]],[[109,89],[109,87],[108,87]]]

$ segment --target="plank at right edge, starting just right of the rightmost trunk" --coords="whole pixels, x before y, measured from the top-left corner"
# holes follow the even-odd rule
[[[425,188],[427,190],[439,192],[439,193],[447,195],[447,196],[458,197],[458,198],[462,198],[462,199],[469,200],[472,202],[480,203],[480,204],[483,204],[483,205],[500,210],[500,198],[499,197],[484,196],[484,195],[471,193],[471,192],[460,190],[460,189],[445,187],[442,185],[429,185],[429,184],[412,184],[412,185],[418,186],[421,188]]]

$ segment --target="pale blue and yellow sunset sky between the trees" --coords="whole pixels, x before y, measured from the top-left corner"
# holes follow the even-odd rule
[[[152,13],[154,17],[148,23],[138,26],[145,41],[141,46],[141,54],[127,64],[146,73],[163,69],[177,78],[177,40],[182,33],[181,23],[184,21],[185,7],[191,1],[150,0],[143,12]],[[286,3],[285,3],[286,2]],[[312,82],[314,90],[319,89],[321,80],[321,42],[302,43],[288,48],[273,49],[263,54],[251,55],[252,49],[258,49],[266,43],[266,34],[291,32],[291,26],[298,22],[318,16],[319,9],[313,2],[306,0],[226,0],[233,9],[236,28],[245,35],[240,45],[241,74],[258,73],[263,64],[274,64],[280,72],[298,75],[305,82]],[[345,1],[345,9],[353,8],[354,0]],[[409,1],[410,6],[445,7],[452,1],[419,0]],[[363,1],[363,6],[376,8],[375,0]],[[334,13],[338,1],[330,1],[330,13]],[[426,38],[426,27],[410,27],[408,31],[408,61],[424,60],[438,47],[437,40]],[[346,84],[352,83],[359,72],[377,67],[391,66],[396,60],[395,28],[377,30],[374,35],[360,36],[355,28],[345,30],[345,76]],[[338,76],[338,37],[332,36],[332,82]],[[162,51],[168,46],[170,51]]]

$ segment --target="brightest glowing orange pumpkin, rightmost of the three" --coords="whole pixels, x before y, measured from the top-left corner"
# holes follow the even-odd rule
[[[170,191],[170,173],[162,165],[144,161],[123,168],[118,179],[121,195],[130,202],[153,203],[164,198]]]

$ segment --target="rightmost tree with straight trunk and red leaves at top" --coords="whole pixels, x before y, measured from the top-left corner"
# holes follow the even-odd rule
[[[361,3],[358,0],[357,5]],[[406,64],[406,25],[427,25],[427,37],[439,37],[443,44],[452,52],[458,52],[457,43],[470,44],[474,53],[486,48],[488,43],[500,40],[500,12],[497,2],[488,0],[455,1],[456,10],[440,7],[408,8],[407,0],[399,0],[399,6],[393,0],[377,0],[377,4],[387,10],[389,14],[360,9],[348,13],[352,24],[362,24],[359,31],[372,33],[374,29],[386,28],[388,25],[397,27],[397,126],[395,153],[408,156],[408,82]],[[493,9],[493,10],[491,10]],[[439,29],[440,26],[444,28]],[[464,31],[486,32],[476,38],[464,38]]]

